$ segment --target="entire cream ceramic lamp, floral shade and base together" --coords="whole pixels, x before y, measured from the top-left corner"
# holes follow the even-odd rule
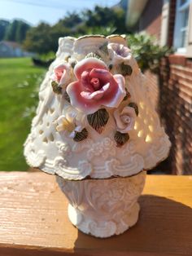
[[[99,237],[132,227],[143,170],[169,148],[124,37],[59,38],[24,156],[29,166],[56,174],[72,223]]]

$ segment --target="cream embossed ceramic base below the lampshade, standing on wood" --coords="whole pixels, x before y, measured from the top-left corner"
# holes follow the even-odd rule
[[[64,180],[59,187],[67,196],[68,217],[81,232],[92,236],[120,235],[137,223],[138,196],[146,173],[114,179]]]

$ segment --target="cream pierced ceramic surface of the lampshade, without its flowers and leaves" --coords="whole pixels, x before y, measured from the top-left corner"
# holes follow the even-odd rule
[[[30,166],[38,167],[48,174],[58,174],[64,179],[85,179],[86,176],[103,179],[112,175],[126,177],[143,169],[149,170],[168,156],[168,136],[160,126],[159,117],[147,95],[145,77],[137,67],[131,52],[126,62],[132,67],[133,73],[124,79],[131,95],[128,102],[137,104],[139,114],[135,118],[133,130],[129,131],[129,142],[121,148],[116,147],[114,108],[108,108],[110,118],[102,134],[98,134],[91,126],[85,124],[89,136],[81,143],[74,142],[56,130],[55,121],[75,108],[72,108],[62,95],[53,92],[51,82],[54,68],[65,60],[71,64],[84,60],[85,55],[90,52],[99,52],[107,66],[113,65],[111,73],[118,73],[116,69],[120,60],[99,50],[101,46],[108,46],[110,42],[126,45],[124,38],[117,36],[59,38],[57,58],[50,65],[41,84],[37,115],[33,119],[31,133],[25,142],[24,155]],[[72,73],[72,70],[69,72]],[[75,80],[76,77],[72,73],[68,83]],[[126,105],[128,102],[123,104]]]

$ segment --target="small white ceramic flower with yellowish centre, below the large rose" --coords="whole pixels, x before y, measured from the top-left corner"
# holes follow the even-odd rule
[[[63,132],[69,138],[74,138],[76,132],[85,128],[85,115],[72,107],[65,108],[62,116],[56,120],[56,130]]]

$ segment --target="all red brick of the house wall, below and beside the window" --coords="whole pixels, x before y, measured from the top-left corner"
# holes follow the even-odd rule
[[[149,0],[139,21],[145,30],[160,39],[161,0]],[[176,0],[169,2],[168,46],[172,46]],[[192,60],[170,55],[160,64],[159,77],[145,73],[146,84],[163,126],[172,142],[168,159],[155,170],[171,170],[172,174],[192,174]]]

